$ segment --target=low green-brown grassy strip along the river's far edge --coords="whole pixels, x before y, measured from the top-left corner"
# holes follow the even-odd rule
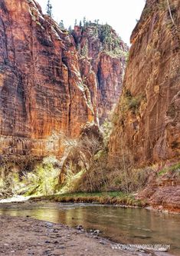
[[[135,198],[133,194],[124,194],[119,191],[112,192],[93,192],[93,193],[67,193],[53,194],[41,197],[32,197],[32,201],[55,201],[62,203],[98,203],[98,204],[118,204],[126,207],[146,207],[145,200]]]

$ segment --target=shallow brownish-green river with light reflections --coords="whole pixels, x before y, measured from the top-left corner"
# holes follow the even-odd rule
[[[0,214],[31,216],[43,221],[82,225],[98,229],[102,236],[123,244],[170,244],[170,253],[180,255],[180,215],[143,208],[120,208],[100,204],[11,202],[0,204]]]

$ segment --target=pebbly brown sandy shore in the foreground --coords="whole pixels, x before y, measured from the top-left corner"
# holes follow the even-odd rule
[[[0,216],[0,231],[1,256],[147,255],[137,251],[114,250],[110,241],[97,235],[28,217]]]

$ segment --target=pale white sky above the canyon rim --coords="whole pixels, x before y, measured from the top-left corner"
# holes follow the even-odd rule
[[[46,12],[47,0],[37,0]],[[129,45],[129,38],[140,18],[145,0],[51,0],[53,18],[68,28],[74,21],[100,20],[100,24],[108,23],[119,36]]]

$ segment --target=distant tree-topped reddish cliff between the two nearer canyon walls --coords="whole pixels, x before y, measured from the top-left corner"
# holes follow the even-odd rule
[[[75,26],[72,35],[80,74],[90,88],[94,112],[102,124],[121,94],[129,48],[110,25],[87,22],[83,27]]]

